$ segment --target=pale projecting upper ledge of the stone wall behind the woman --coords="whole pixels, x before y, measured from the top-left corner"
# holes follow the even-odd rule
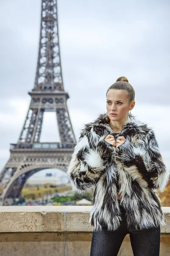
[[[0,233],[92,232],[89,214],[92,206],[3,206],[0,207]],[[170,233],[170,207],[162,207]]]

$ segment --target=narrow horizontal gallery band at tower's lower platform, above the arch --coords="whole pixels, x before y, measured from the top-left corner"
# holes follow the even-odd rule
[[[10,144],[10,149],[18,148],[32,148],[32,149],[57,149],[57,148],[74,148],[75,144],[69,143],[20,143],[20,144]]]

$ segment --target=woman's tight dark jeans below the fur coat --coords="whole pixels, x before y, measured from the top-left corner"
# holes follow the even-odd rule
[[[107,227],[102,227],[101,231],[93,231],[90,256],[116,256],[126,234],[130,234],[134,256],[159,256],[160,226],[143,230],[136,230],[134,227],[128,229],[125,209],[122,205],[120,209],[122,221],[117,230],[108,231]]]

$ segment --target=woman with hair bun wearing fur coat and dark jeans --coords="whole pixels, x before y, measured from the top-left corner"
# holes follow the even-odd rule
[[[128,233],[134,256],[159,256],[166,224],[157,189],[164,191],[170,174],[154,131],[131,115],[135,92],[127,78],[106,97],[107,114],[82,129],[67,171],[74,191],[94,189],[91,256],[116,256]]]

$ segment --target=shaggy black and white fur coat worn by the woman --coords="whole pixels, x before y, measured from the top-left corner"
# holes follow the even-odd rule
[[[132,121],[128,116],[117,136],[124,136],[126,141],[115,148],[104,142],[108,134],[114,134],[106,117],[107,113],[99,114],[81,130],[67,170],[74,191],[82,194],[94,188],[89,224],[94,230],[101,230],[102,226],[108,230],[119,227],[122,217],[117,181],[128,227],[165,226],[157,189],[164,191],[170,173],[153,129],[135,116],[131,116]]]

